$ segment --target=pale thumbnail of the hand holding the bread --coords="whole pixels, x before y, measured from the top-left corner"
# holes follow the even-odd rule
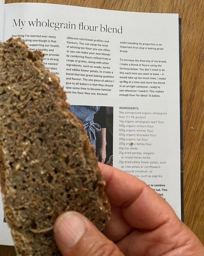
[[[66,248],[78,243],[85,232],[85,222],[75,213],[64,213],[55,224],[55,237]],[[61,245],[62,245],[61,244]]]

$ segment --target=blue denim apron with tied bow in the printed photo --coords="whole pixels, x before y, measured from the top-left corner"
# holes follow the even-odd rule
[[[94,145],[96,151],[96,132],[101,130],[100,125],[94,123],[94,114],[98,112],[100,106],[79,106],[71,105],[69,110],[82,121],[84,130],[90,138],[91,144]]]

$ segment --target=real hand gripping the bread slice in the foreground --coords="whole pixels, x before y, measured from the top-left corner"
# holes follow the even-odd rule
[[[204,247],[173,209],[141,180],[99,163],[111,203],[104,234],[78,212],[66,212],[54,234],[63,256],[203,256]]]

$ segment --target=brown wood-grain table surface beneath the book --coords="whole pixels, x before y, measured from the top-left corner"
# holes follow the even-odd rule
[[[179,13],[182,18],[184,218],[204,243],[204,1],[203,0],[36,0],[101,9]],[[1,232],[1,231],[0,231]],[[16,255],[0,246],[1,256]]]

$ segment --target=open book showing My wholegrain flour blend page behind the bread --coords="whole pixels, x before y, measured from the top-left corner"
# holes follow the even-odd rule
[[[144,180],[182,219],[178,14],[0,0],[0,35],[44,52],[99,161]],[[2,203],[0,230],[12,245]]]

